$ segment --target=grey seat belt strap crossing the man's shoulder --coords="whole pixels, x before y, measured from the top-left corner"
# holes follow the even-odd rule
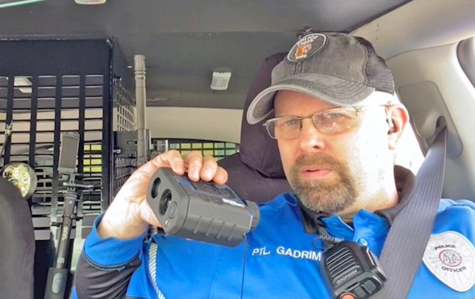
[[[406,298],[422,262],[442,196],[447,126],[437,119],[430,148],[417,173],[417,186],[409,203],[395,217],[380,256],[388,280],[372,299]]]

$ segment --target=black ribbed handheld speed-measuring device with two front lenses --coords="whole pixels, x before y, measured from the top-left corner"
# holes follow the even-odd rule
[[[160,168],[153,174],[147,201],[165,233],[236,247],[259,222],[259,207],[243,201],[227,185],[193,182]]]

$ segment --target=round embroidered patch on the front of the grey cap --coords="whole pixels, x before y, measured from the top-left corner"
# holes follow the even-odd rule
[[[327,37],[324,34],[308,34],[293,45],[287,54],[287,59],[292,62],[300,62],[320,52],[326,44]]]

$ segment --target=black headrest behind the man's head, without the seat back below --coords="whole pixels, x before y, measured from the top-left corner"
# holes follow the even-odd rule
[[[277,141],[270,138],[262,125],[265,120],[250,125],[246,121],[247,109],[261,91],[271,86],[272,69],[281,62],[287,53],[277,53],[267,57],[260,65],[244,103],[241,124],[240,159],[250,168],[256,169],[268,178],[285,178]],[[270,115],[269,117],[273,117]],[[267,118],[266,118],[267,119]]]

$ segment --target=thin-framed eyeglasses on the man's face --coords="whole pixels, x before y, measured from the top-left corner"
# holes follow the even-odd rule
[[[311,118],[317,130],[323,134],[338,134],[345,132],[359,124],[359,113],[375,107],[387,106],[374,105],[364,107],[336,107],[323,110],[315,114],[297,117],[281,116],[271,118],[264,126],[273,139],[295,139],[302,132],[302,120]]]

